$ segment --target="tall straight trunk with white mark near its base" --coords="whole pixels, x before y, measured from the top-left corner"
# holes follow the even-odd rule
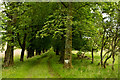
[[[71,21],[71,2],[69,3],[69,12],[68,12],[68,25],[66,31],[66,42],[65,42],[65,56],[64,56],[64,68],[73,68],[72,66],[72,25]]]

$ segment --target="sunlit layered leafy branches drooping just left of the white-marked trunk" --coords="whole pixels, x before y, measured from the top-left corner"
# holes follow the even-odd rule
[[[65,14],[66,9],[58,9],[52,15],[48,16],[47,22],[43,26],[40,34],[42,37],[53,35],[53,38],[60,37],[65,35],[66,24],[68,16]]]

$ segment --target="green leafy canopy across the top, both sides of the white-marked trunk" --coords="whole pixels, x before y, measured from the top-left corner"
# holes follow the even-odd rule
[[[67,3],[65,4],[67,5]],[[27,46],[30,46],[29,41],[31,41],[33,36],[36,37],[36,33],[38,35],[37,37],[49,35],[52,35],[52,38],[54,39],[66,37],[68,18],[72,17],[73,48],[79,50],[84,47],[86,50],[91,50],[91,48],[98,48],[101,46],[101,34],[103,34],[104,30],[103,26],[105,26],[105,29],[109,29],[110,25],[114,25],[114,23],[116,23],[112,22],[111,24],[109,21],[104,22],[104,20],[108,18],[110,18],[111,21],[116,19],[115,15],[117,5],[114,2],[72,3],[72,16],[68,16],[68,9],[58,3],[9,2],[4,5],[6,8],[5,13],[9,13],[12,17],[17,19],[14,25],[10,22],[10,27],[6,26],[4,28],[5,30],[12,30],[14,32],[14,35],[11,34],[11,37],[15,38],[14,45],[18,47],[17,33],[20,35],[19,38],[21,39],[21,43],[23,42],[24,34],[27,33]],[[59,6],[57,7],[56,5]],[[103,13],[109,16],[103,18]],[[3,24],[8,24],[5,20],[12,21],[13,18],[11,16],[3,17]],[[111,29],[114,30],[113,27],[111,27]],[[110,33],[110,31],[106,33]],[[7,37],[7,35],[4,35],[4,37],[4,40],[11,39],[10,36]],[[87,40],[86,37],[89,37],[90,39]]]

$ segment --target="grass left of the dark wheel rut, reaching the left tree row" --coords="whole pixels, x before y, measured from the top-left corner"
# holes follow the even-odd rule
[[[51,68],[52,55],[43,54],[24,62],[20,62],[18,58],[13,67],[3,69],[3,78],[60,78]]]

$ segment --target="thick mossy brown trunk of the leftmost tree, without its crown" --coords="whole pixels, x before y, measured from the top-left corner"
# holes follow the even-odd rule
[[[14,32],[11,30],[11,26],[16,25],[16,14],[11,15],[10,13],[6,13],[7,16],[12,20],[7,22],[7,37],[9,38],[7,40],[7,49],[5,51],[5,58],[4,58],[4,63],[3,67],[11,66],[14,64]]]

